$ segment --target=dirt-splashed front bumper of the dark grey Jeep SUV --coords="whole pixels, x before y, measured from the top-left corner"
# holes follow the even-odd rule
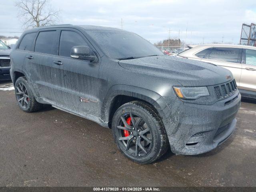
[[[235,117],[241,103],[238,91],[213,105],[191,104],[173,99],[164,98],[171,113],[163,121],[173,153],[196,155],[208,152],[234,132]],[[228,102],[230,100],[232,102]]]

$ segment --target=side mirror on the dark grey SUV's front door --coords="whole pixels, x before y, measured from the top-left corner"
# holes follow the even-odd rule
[[[87,61],[95,61],[96,55],[92,52],[88,46],[74,46],[71,48],[70,57],[74,59],[81,59]]]

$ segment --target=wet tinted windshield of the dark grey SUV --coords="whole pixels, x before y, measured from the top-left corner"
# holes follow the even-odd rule
[[[110,58],[133,59],[164,55],[150,42],[134,33],[108,30],[87,30],[86,32]]]

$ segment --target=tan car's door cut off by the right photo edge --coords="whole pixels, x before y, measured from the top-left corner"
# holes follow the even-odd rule
[[[240,89],[256,91],[256,50],[243,49]]]

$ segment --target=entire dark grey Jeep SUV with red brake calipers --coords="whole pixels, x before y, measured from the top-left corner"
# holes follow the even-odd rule
[[[230,71],[166,56],[124,30],[72,25],[27,30],[12,49],[11,66],[23,111],[50,104],[112,128],[120,151],[141,164],[168,149],[208,152],[236,126],[241,96]],[[225,97],[216,90],[222,86],[232,86]]]

